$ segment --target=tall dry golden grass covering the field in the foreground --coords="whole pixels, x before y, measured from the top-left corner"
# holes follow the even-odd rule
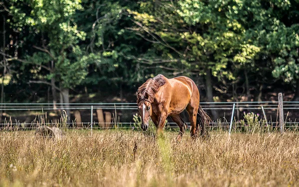
[[[0,186],[299,186],[299,134],[0,132]]]

